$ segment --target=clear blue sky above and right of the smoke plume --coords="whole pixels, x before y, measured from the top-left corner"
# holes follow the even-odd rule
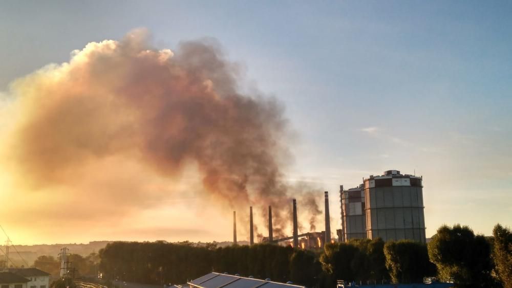
[[[287,176],[331,191],[331,215],[340,184],[416,171],[428,236],[443,223],[490,234],[512,225],[511,13],[506,1],[2,2],[0,91],[137,27],[158,48],[214,37],[246,87],[283,102],[299,139]]]

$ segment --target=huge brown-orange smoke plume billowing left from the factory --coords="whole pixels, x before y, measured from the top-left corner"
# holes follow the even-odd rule
[[[291,196],[284,181],[291,134],[283,107],[242,95],[239,83],[237,65],[208,41],[156,50],[134,30],[91,42],[69,63],[12,84],[3,165],[17,175],[13,186],[34,195],[124,212],[158,205],[173,190],[166,180],[192,165],[206,197],[239,211],[272,205],[277,234],[289,234],[292,197],[319,210],[308,189]]]

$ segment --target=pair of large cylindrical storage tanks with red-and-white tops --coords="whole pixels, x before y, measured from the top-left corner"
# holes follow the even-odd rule
[[[370,175],[359,187],[340,186],[340,241],[411,239],[425,243],[422,178],[398,170]]]

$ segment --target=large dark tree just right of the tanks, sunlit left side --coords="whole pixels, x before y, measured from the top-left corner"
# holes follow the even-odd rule
[[[489,241],[467,226],[441,226],[429,242],[429,256],[438,277],[453,277],[459,287],[494,287],[494,263]]]

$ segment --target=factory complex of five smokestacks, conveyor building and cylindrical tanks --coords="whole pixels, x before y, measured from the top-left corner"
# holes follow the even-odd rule
[[[382,175],[370,175],[355,188],[345,190],[340,185],[341,227],[337,240],[382,238],[384,241],[410,239],[425,243],[423,178],[387,170]],[[298,234],[297,201],[292,200],[292,236],[273,237],[272,207],[268,207],[268,237],[262,242],[285,243],[302,249],[321,249],[331,242],[329,192],[324,192],[325,230]],[[249,243],[254,244],[252,207],[249,208]],[[237,243],[236,212],[233,211],[233,243]]]

